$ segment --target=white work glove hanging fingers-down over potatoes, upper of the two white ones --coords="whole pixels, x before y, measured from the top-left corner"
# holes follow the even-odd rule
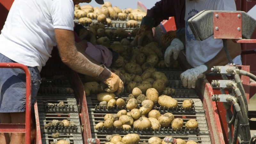
[[[173,59],[177,60],[178,55],[181,50],[184,49],[183,43],[178,39],[174,38],[171,42],[171,45],[167,47],[166,51],[164,52],[164,63],[166,67],[170,67],[170,61],[171,61],[171,56],[173,53]]]

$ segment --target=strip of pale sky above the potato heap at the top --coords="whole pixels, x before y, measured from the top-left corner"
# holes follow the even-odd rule
[[[112,6],[118,6],[120,9],[124,9],[124,8],[132,8],[132,9],[136,9],[137,8],[137,2],[138,0],[104,0],[105,2],[110,2],[112,4]],[[144,4],[147,9],[150,9],[151,7],[153,7],[156,2],[160,1],[160,0],[139,0],[142,4]],[[88,3],[80,3],[80,5],[86,5]],[[97,4],[95,2],[95,0],[92,0],[91,3],[89,3],[90,5],[92,5],[93,7],[97,6],[100,7],[100,4]]]

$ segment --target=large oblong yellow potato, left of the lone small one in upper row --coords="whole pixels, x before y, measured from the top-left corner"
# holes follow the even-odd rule
[[[158,97],[158,104],[161,107],[176,108],[178,106],[178,101],[170,96],[161,95],[160,97]]]

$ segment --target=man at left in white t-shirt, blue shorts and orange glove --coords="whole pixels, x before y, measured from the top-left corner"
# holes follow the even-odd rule
[[[103,0],[95,0],[103,4]],[[15,0],[0,35],[0,62],[21,63],[31,74],[31,102],[36,100],[40,71],[53,46],[69,68],[100,79],[107,92],[121,93],[122,80],[104,65],[88,60],[74,42],[74,5],[91,0]],[[26,76],[21,69],[0,68],[0,122],[25,123]],[[33,122],[33,121],[31,121]],[[32,123],[31,126],[34,126]],[[34,136],[33,134],[31,136]],[[24,144],[24,133],[1,133],[1,144]],[[33,141],[33,139],[31,139]]]

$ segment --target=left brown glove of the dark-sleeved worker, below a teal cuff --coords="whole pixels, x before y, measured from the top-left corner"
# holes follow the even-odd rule
[[[133,45],[142,45],[143,39],[148,37],[150,41],[154,41],[152,29],[146,25],[142,25],[133,39]]]

